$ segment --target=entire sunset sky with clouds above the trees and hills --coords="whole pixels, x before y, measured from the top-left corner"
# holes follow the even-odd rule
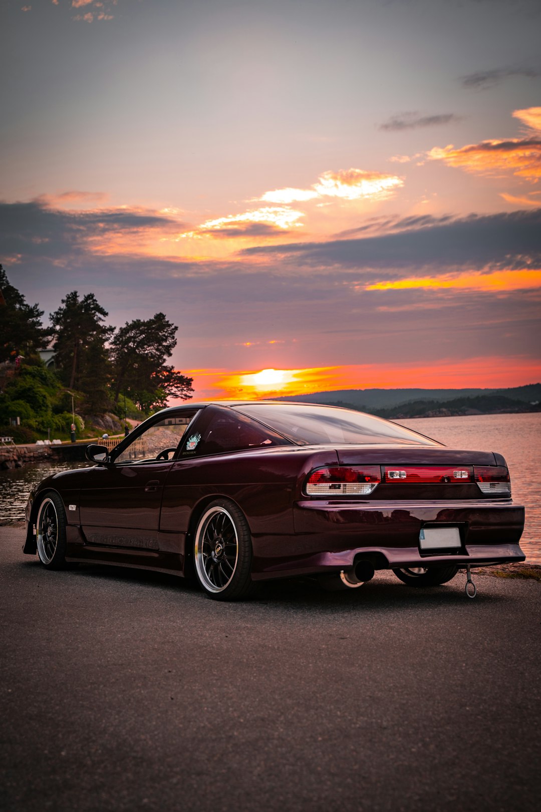
[[[0,261],[195,396],[541,379],[539,0],[4,0]]]

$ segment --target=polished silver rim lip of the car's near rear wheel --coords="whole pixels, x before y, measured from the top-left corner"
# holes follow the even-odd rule
[[[234,540],[230,540],[231,534]],[[234,556],[231,551],[233,546]],[[229,555],[225,552],[227,548],[230,549]],[[234,564],[231,564],[233,558]],[[205,590],[218,593],[227,589],[238,564],[238,533],[234,518],[226,508],[214,506],[201,516],[195,533],[194,559],[197,575]],[[224,582],[217,583],[222,579]]]

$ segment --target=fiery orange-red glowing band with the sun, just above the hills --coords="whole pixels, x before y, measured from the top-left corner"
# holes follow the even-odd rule
[[[423,363],[365,364],[308,369],[190,369],[194,400],[263,400],[340,389],[519,387],[541,378],[526,356],[442,358]]]

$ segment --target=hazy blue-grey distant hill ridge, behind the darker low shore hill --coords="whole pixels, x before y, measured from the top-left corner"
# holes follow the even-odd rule
[[[313,392],[311,395],[286,395],[276,400],[296,400],[300,403],[333,404],[373,412],[415,401],[445,403],[458,398],[477,398],[482,395],[500,395],[510,400],[535,404],[541,401],[541,383],[509,389],[339,389]],[[474,408],[474,407],[472,407]]]

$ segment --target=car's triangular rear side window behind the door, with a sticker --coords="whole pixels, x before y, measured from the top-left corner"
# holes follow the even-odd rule
[[[252,421],[243,414],[225,408],[209,408],[210,421],[188,432],[181,456],[206,456],[246,448],[290,445],[286,439]]]

